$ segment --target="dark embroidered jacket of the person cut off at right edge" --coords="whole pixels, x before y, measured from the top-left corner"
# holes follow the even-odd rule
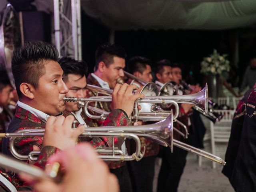
[[[256,191],[256,89],[246,92],[234,113],[222,172],[236,191]]]

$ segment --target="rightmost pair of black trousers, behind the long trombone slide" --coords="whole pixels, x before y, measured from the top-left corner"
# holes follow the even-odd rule
[[[188,140],[182,139],[188,143]],[[163,148],[162,165],[158,175],[157,192],[177,192],[188,152],[175,147],[173,153],[169,147]]]

